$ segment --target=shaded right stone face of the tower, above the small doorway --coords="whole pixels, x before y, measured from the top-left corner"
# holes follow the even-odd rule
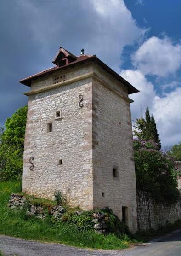
[[[125,95],[125,88],[120,83],[118,87],[112,81],[111,87]],[[122,206],[127,207],[126,224],[136,232],[136,178],[130,104],[96,80],[93,81],[92,98],[94,208],[108,206],[122,219]],[[113,169],[117,169],[117,177],[113,177]]]

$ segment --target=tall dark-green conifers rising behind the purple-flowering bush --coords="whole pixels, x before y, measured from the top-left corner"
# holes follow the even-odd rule
[[[143,117],[136,119],[134,124],[133,134],[141,140],[153,140],[157,143],[157,149],[161,149],[159,134],[153,115],[150,117],[150,112],[147,107],[145,111],[145,119]]]

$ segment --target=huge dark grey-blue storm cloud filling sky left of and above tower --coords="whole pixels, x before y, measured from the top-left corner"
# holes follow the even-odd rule
[[[122,48],[144,34],[122,0],[1,0],[0,32],[1,126],[27,103],[29,88],[18,80],[51,67],[60,46],[75,55],[83,47],[117,68]]]

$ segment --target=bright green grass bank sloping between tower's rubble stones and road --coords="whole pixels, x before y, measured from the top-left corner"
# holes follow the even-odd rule
[[[50,216],[46,217],[45,220],[35,217],[28,218],[24,211],[14,211],[7,207],[12,192],[21,193],[19,181],[0,182],[0,234],[28,240],[106,250],[124,249],[131,243],[126,235],[123,237],[115,234],[98,235],[92,230],[77,230],[68,223],[60,223],[57,226],[51,221]],[[47,204],[47,207],[50,204],[54,205],[54,202],[50,200],[29,198],[34,202],[38,200],[38,203]]]

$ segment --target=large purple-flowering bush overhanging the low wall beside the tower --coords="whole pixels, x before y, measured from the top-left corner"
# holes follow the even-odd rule
[[[134,140],[136,187],[156,200],[175,202],[180,196],[172,159],[152,140]]]

